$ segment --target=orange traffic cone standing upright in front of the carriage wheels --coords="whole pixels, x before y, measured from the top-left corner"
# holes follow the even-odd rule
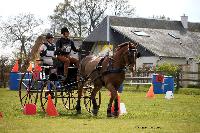
[[[56,110],[55,105],[53,104],[53,101],[51,99],[51,95],[48,95],[48,102],[47,102],[47,109],[46,109],[46,113],[48,116],[58,116],[58,112]]]

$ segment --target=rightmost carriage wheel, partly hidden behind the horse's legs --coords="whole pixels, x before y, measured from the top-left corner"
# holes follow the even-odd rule
[[[93,105],[92,105],[92,100],[91,100],[91,93],[92,90],[94,89],[94,86],[91,83],[87,83],[86,86],[83,87],[83,98],[84,98],[84,104],[85,108],[88,112],[92,112]],[[96,94],[96,102],[98,108],[100,108],[101,104],[101,92],[97,92]]]

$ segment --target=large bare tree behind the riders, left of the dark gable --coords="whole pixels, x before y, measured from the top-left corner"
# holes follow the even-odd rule
[[[67,26],[74,36],[85,36],[99,24],[106,9],[106,0],[65,0],[50,16],[53,31]]]

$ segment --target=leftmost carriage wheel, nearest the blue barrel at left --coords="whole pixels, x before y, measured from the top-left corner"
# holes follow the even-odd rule
[[[41,81],[35,80],[32,72],[22,74],[19,84],[19,98],[22,107],[29,103],[37,103],[40,86]]]

